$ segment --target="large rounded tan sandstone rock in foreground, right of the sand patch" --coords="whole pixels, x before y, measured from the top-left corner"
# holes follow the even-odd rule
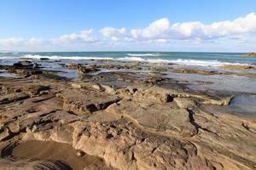
[[[125,120],[74,122],[72,126],[74,148],[100,156],[117,169],[213,169],[209,161],[196,155],[193,144],[144,133]]]

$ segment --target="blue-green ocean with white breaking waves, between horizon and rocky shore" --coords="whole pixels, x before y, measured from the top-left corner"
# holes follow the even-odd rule
[[[183,52],[40,52],[0,53],[0,63],[16,59],[49,58],[57,60],[109,59],[144,61],[218,67],[220,65],[256,65],[256,58],[244,57],[241,53],[183,53]]]

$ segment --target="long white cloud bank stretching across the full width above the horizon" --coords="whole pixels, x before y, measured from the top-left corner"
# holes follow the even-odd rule
[[[73,46],[74,44],[114,44],[118,43],[176,43],[176,42],[246,42],[251,37],[256,37],[256,14],[247,14],[236,20],[224,20],[206,25],[200,21],[189,21],[183,23],[172,23],[167,18],[155,20],[143,28],[131,30],[113,27],[104,27],[100,31],[84,30],[79,33],[71,33],[44,38],[21,38],[9,37],[0,39],[0,49],[4,48],[27,48],[27,47],[54,47]]]

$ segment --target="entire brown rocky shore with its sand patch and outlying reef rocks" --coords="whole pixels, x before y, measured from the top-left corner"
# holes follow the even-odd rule
[[[205,109],[230,105],[234,94],[163,77],[170,70],[227,73],[143,63],[62,66],[79,78],[30,62],[0,66],[22,76],[0,77],[0,169],[256,168],[256,120]]]

